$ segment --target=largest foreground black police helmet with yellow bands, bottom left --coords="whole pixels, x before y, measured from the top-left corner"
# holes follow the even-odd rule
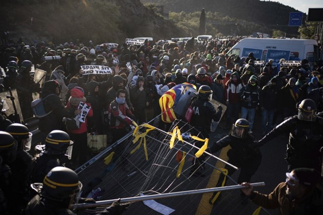
[[[69,168],[55,167],[44,178],[41,195],[62,202],[62,206],[69,208],[77,203],[82,190],[82,183],[78,175]]]

